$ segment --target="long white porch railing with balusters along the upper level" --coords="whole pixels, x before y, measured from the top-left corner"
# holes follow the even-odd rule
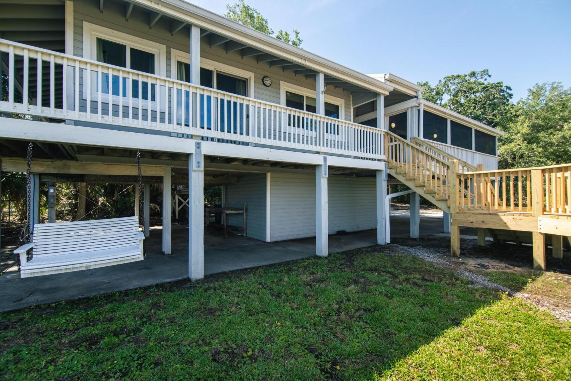
[[[369,126],[4,39],[0,65],[1,112],[384,159]]]

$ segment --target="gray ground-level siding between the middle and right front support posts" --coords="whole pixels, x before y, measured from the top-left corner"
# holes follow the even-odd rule
[[[376,179],[329,176],[329,234],[377,227]]]

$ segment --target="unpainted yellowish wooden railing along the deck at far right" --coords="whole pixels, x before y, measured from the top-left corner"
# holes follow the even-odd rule
[[[456,177],[457,212],[571,215],[571,164],[465,172]]]

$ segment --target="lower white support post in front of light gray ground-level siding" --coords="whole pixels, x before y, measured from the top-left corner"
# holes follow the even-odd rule
[[[327,156],[323,157],[323,164],[315,168],[315,212],[316,212],[316,254],[320,257],[329,255],[329,227],[328,227],[328,192]]]

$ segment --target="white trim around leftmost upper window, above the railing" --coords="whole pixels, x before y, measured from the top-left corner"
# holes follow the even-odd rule
[[[97,61],[96,38],[98,37],[155,54],[155,73],[151,75],[167,76],[167,47],[165,45],[84,21],[83,58]],[[130,63],[130,54],[127,54],[127,70],[130,70],[128,69]]]

